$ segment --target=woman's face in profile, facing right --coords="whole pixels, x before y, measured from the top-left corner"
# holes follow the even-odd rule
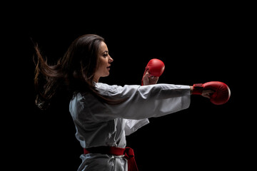
[[[101,42],[99,46],[98,56],[98,67],[96,68],[96,73],[94,77],[94,81],[97,83],[100,77],[109,76],[111,63],[114,61],[111,56],[109,56],[109,51],[104,41]]]

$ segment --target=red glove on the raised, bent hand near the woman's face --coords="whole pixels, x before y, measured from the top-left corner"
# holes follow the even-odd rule
[[[153,58],[148,62],[146,69],[143,73],[143,76],[145,76],[146,71],[148,71],[151,76],[159,77],[163,73],[164,68],[165,66],[163,61]],[[142,78],[142,85],[143,85],[143,78]]]

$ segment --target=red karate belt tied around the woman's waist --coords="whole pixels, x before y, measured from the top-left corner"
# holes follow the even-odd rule
[[[128,170],[138,171],[133,149],[131,147],[120,148],[120,147],[101,146],[101,147],[84,148],[84,154],[86,155],[89,153],[101,153],[101,154],[107,154],[107,155],[124,155],[126,160],[128,160]]]

